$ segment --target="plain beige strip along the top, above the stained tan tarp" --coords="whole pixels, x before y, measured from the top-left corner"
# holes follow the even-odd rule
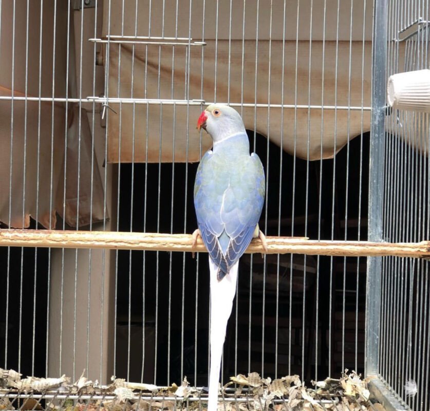
[[[139,0],[133,6],[123,0],[104,3],[103,35],[110,29],[111,35],[133,36],[137,29],[140,36],[188,38],[191,34],[195,41],[241,40],[242,33],[245,40],[255,40],[257,33],[258,40],[269,40],[270,35],[272,40],[282,40],[284,32],[285,40],[349,41],[351,33],[353,41],[372,39],[373,5],[368,0]]]

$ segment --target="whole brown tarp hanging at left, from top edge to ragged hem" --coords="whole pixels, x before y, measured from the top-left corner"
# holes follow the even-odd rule
[[[65,98],[68,3],[45,0],[42,16],[40,2],[28,2],[28,5],[27,11],[27,2],[2,3],[0,96]],[[91,25],[93,22],[87,21],[87,24]],[[72,24],[70,27],[72,28]],[[72,30],[69,42],[69,49],[73,50]],[[91,58],[90,61],[90,64],[94,63],[94,59]],[[76,81],[70,81],[74,80],[72,76],[75,64],[74,59],[70,58],[69,92],[71,84],[76,84]],[[97,159],[92,156],[88,117],[83,110],[79,129],[77,113],[79,114],[79,109],[69,104],[66,132],[64,103],[53,105],[49,101],[0,100],[0,221],[7,226],[28,227],[31,216],[45,228],[54,228],[57,211],[55,206],[58,206],[60,215],[67,224],[76,227],[78,172],[82,176],[78,225],[84,226],[91,219],[96,222],[103,218],[103,186]],[[63,215],[66,134],[66,210]],[[81,153],[78,164],[79,150]],[[94,175],[90,180],[88,177],[91,176],[93,158]]]

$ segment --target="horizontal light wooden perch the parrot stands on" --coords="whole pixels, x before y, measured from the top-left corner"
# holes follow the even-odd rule
[[[347,257],[430,257],[430,241],[369,242],[317,241],[304,237],[266,237],[269,254],[310,254]],[[201,238],[192,247],[191,234],[127,233],[111,231],[0,230],[0,246],[105,248],[147,251],[206,252]],[[264,253],[259,239],[253,239],[247,253]]]

